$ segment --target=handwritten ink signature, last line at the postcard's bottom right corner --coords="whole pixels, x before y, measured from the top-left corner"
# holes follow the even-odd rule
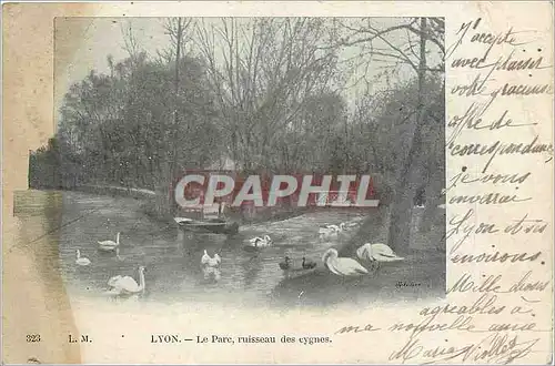
[[[438,346],[426,348],[420,344],[418,338],[411,337],[400,350],[391,354],[390,360],[405,363],[408,359],[418,357],[431,358],[423,364],[436,364],[451,359],[460,362],[485,360],[488,364],[509,364],[515,359],[526,356],[539,338],[521,342],[518,336],[502,335],[500,333],[490,334],[478,343],[470,344],[463,347]],[[458,358],[458,359],[457,359]]]

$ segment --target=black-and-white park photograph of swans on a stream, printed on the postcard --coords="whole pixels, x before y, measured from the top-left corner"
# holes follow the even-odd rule
[[[49,261],[71,297],[276,309],[445,297],[443,18],[53,27],[56,133],[29,152],[14,210],[21,230],[56,237]]]

